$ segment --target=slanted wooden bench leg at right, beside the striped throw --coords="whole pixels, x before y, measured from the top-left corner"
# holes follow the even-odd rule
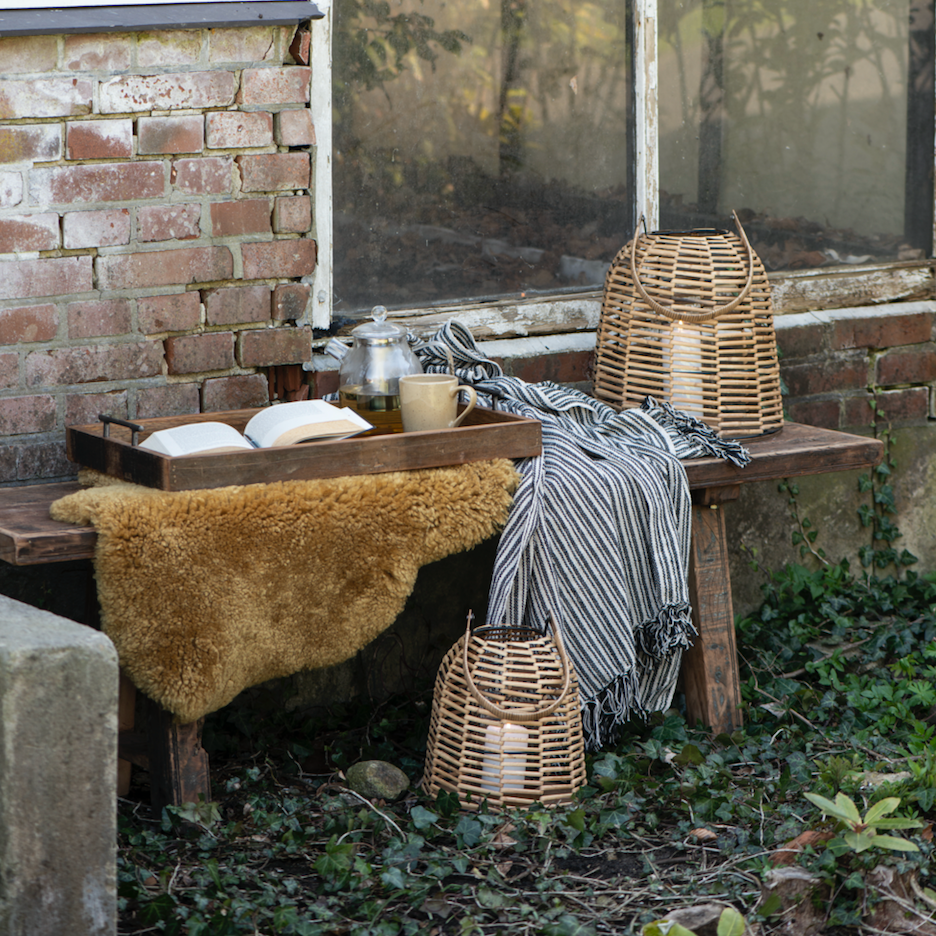
[[[693,504],[689,600],[699,632],[683,656],[690,724],[701,720],[716,734],[741,727],[741,687],[735,648],[725,516],[718,504]]]

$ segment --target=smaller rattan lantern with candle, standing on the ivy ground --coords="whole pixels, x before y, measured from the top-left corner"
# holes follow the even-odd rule
[[[585,783],[578,683],[562,637],[525,627],[471,629],[436,677],[423,788],[465,809],[556,805]]]

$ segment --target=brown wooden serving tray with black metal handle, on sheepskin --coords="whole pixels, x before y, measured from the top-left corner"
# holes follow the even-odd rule
[[[137,441],[159,429],[194,422],[225,422],[243,432],[256,412],[230,410],[141,419],[137,424],[144,431]],[[535,419],[477,406],[456,429],[356,436],[243,452],[170,457],[132,445],[131,431],[123,426],[111,424],[109,437],[104,438],[102,423],[69,426],[65,445],[69,459],[85,468],[163,491],[191,491],[524,458],[542,451],[540,429]]]

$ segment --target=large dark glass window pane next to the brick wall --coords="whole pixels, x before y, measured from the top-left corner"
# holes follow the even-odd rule
[[[335,311],[595,288],[633,225],[621,0],[337,0]]]

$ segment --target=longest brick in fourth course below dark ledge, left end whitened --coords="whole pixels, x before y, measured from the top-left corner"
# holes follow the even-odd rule
[[[166,194],[161,162],[100,163],[33,169],[29,198],[34,205],[138,201]]]

